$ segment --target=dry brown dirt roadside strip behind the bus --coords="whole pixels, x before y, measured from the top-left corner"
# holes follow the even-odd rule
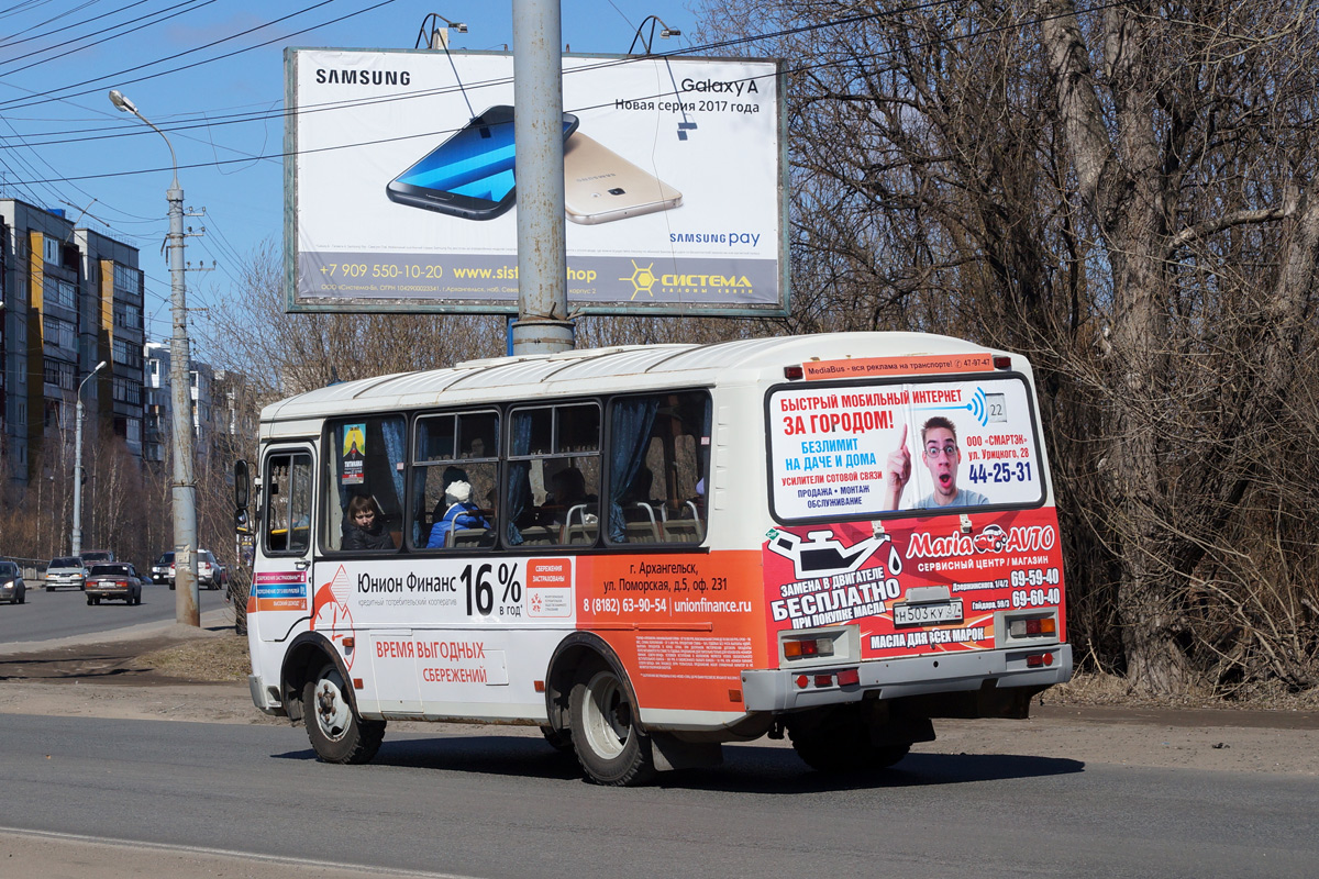
[[[200,630],[157,626],[95,642],[0,646],[0,712],[286,723],[252,706],[247,640],[216,622],[203,619]],[[1093,680],[1047,691],[1038,701],[1028,721],[936,721],[938,741],[915,750],[1319,775],[1319,710],[1307,702],[1289,710],[1132,704],[1111,683]],[[390,723],[394,731],[464,729],[471,727]],[[503,733],[538,735],[534,727]]]

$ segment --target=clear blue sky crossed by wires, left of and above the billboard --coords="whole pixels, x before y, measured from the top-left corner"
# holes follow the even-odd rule
[[[183,188],[194,349],[211,306],[262,245],[282,253],[284,49],[412,49],[438,13],[464,22],[454,49],[512,50],[512,0],[0,0],[0,198],[62,208],[78,225],[138,248],[146,335],[170,335],[161,136],[117,111],[117,88],[165,130]],[[562,0],[574,53],[624,54],[648,16],[692,46],[685,0]],[[649,26],[646,28],[649,33]]]

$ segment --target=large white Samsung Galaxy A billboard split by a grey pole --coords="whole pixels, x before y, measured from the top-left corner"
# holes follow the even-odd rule
[[[288,49],[290,311],[517,310],[513,58]],[[774,61],[565,55],[568,306],[787,310]]]

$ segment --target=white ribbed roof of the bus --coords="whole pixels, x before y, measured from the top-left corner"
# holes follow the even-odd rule
[[[667,385],[782,380],[783,366],[842,357],[906,357],[983,352],[973,343],[915,332],[847,332],[744,339],[710,345],[619,345],[557,354],[471,360],[450,369],[394,373],[319,387],[266,406],[261,420],[284,422],[347,412],[499,402],[513,386],[537,397],[599,393],[611,378],[627,390]]]

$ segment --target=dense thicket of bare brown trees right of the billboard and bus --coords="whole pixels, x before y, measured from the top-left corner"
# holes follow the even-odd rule
[[[1298,394],[1319,335],[1312,8],[703,13],[703,37],[778,33],[744,50],[787,59],[793,328],[1035,361],[1084,655],[1155,692],[1310,685],[1299,486],[1319,473],[1260,439],[1319,422]]]

